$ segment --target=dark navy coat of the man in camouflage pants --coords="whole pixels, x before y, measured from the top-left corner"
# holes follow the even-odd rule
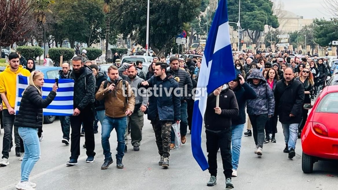
[[[178,121],[181,120],[180,116],[180,107],[181,107],[181,98],[175,96],[178,94],[179,86],[171,72],[167,72],[167,77],[163,80],[160,77],[152,76],[147,80],[149,85],[143,86],[141,83],[138,85],[138,89],[144,87],[150,89],[151,96],[149,95],[149,105],[148,105],[148,119],[153,121],[156,117],[159,117],[160,121]],[[156,85],[156,89],[154,86]],[[162,85],[162,88],[159,88]],[[154,92],[154,89],[156,90]],[[170,96],[159,96],[161,93],[163,95],[171,91]],[[158,97],[156,97],[156,94]]]

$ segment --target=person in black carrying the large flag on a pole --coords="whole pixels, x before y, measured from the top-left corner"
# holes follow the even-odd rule
[[[231,118],[238,116],[238,104],[235,93],[222,87],[208,95],[204,123],[207,135],[207,152],[209,173],[211,175],[207,186],[216,185],[217,176],[217,151],[221,150],[221,157],[227,189],[234,188],[231,182],[232,157],[231,157]],[[216,107],[216,97],[219,95],[219,106]],[[215,108],[216,107],[216,108]]]

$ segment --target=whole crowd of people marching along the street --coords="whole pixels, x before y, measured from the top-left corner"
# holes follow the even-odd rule
[[[184,60],[176,54],[170,57],[167,64],[165,57],[154,56],[145,73],[142,62],[121,64],[117,57],[115,65],[110,66],[106,73],[100,70],[95,61],[86,59],[86,52],[81,53],[73,57],[71,65],[63,63],[57,76],[74,80],[74,113],[60,117],[63,132],[61,142],[70,144],[71,150],[66,164],[78,164],[81,136],[85,138],[86,162],[94,162],[94,134],[98,133],[100,122],[105,157],[101,169],[107,169],[114,162],[109,143],[114,128],[118,142],[116,166],[123,168],[122,159],[128,151],[127,135],[130,133],[132,150],[140,151],[143,118],[147,114],[155,132],[160,155],[158,164],[168,168],[170,150],[176,146],[172,126],[180,125],[179,141],[182,144],[187,142],[188,127],[191,134],[193,95],[197,90],[201,58],[193,56]],[[202,55],[201,51],[189,53]],[[303,103],[311,103],[311,99],[316,97],[318,87],[330,75],[330,68],[327,60],[316,56],[312,60],[310,57],[290,58],[290,55],[288,52],[233,54],[236,78],[208,95],[204,116],[211,175],[208,186],[217,183],[217,151],[220,149],[226,188],[234,188],[231,179],[238,175],[245,123],[247,132],[244,134],[254,137],[254,153],[262,156],[264,143],[277,141],[275,133],[279,118],[286,144],[283,151],[288,153],[290,159],[295,156],[297,136],[308,114],[308,110],[303,109]],[[29,63],[22,66],[19,54],[11,53],[8,59],[9,65],[0,73],[0,107],[3,109],[4,126],[0,166],[9,164],[14,126],[16,156],[22,160],[21,180],[16,188],[32,190],[36,184],[29,180],[29,174],[41,155],[39,141],[43,140],[43,108],[53,101],[58,86],[55,83],[49,95],[43,99],[41,88],[44,76],[34,69],[34,60],[28,59]],[[46,64],[51,64],[48,59]],[[23,93],[18,114],[14,115],[18,74],[29,77],[29,87]],[[217,96],[220,97],[218,107]]]

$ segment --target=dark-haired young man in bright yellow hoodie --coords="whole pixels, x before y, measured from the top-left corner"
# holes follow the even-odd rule
[[[7,166],[9,164],[9,150],[12,142],[13,124],[15,119],[14,107],[15,98],[17,93],[17,76],[29,76],[30,72],[20,65],[19,55],[17,53],[10,53],[8,56],[9,65],[7,65],[5,71],[0,73],[0,95],[3,104],[3,126],[4,135],[2,143],[2,160],[0,166]],[[20,136],[18,133],[18,127],[14,127],[15,137],[15,153],[17,157],[20,157]]]

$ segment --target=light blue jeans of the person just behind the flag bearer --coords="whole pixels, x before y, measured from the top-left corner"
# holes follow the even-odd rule
[[[241,139],[243,135],[244,124],[231,125],[231,152],[232,152],[232,165],[233,169],[237,170],[239,155],[241,153]]]

